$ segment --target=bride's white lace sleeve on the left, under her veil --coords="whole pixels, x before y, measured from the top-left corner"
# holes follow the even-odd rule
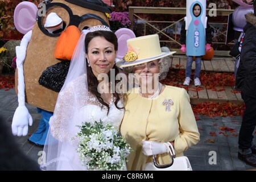
[[[61,142],[67,142],[71,139],[68,131],[69,121],[72,117],[71,106],[74,102],[74,92],[71,86],[67,86],[65,90],[59,93],[53,116],[50,120],[51,134]]]

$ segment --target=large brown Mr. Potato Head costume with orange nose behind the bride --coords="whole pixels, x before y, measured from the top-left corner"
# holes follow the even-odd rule
[[[71,60],[81,30],[97,25],[109,26],[106,13],[111,13],[109,6],[101,0],[48,2],[40,4],[42,9],[38,10],[33,3],[24,1],[14,12],[15,27],[25,35],[20,46],[16,47],[15,89],[19,105],[11,127],[14,135],[26,136],[28,124],[32,125],[32,117],[25,102],[38,107],[42,111],[42,118],[38,130],[28,139],[38,146],[43,146],[46,140],[49,118],[67,76],[68,61]],[[126,40],[135,38],[135,34],[127,28],[120,28],[115,34],[118,38],[117,59],[121,59],[127,52]]]

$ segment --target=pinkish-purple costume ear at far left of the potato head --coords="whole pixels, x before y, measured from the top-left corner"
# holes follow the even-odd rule
[[[38,7],[32,2],[23,1],[14,10],[14,26],[22,33],[26,34],[32,30],[38,17]]]

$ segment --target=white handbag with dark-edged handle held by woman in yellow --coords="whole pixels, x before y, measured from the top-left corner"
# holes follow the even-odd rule
[[[165,143],[170,156],[172,158],[171,164],[158,164],[156,161],[156,155],[153,156],[153,162],[146,163],[144,171],[192,171],[191,164],[186,156],[180,156],[176,158],[174,147],[170,142]]]

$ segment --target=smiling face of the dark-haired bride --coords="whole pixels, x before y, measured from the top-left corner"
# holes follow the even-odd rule
[[[108,42],[104,37],[93,38],[88,46],[86,59],[90,63],[93,74],[98,77],[100,73],[106,73],[113,68],[115,63],[114,44]]]

